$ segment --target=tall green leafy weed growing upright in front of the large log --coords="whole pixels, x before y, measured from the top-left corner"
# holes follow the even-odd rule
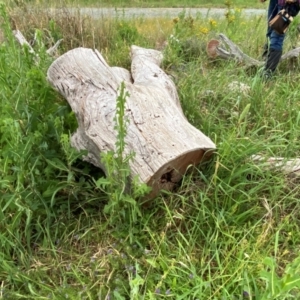
[[[134,153],[126,154],[126,135],[129,119],[125,115],[126,98],[129,97],[125,83],[119,88],[116,99],[116,115],[114,117],[116,130],[115,150],[101,154],[105,165],[106,178],[96,181],[97,187],[104,188],[108,196],[108,203],[104,212],[109,215],[111,224],[130,224],[134,226],[138,217],[141,217],[139,199],[149,192],[146,184],[139,182],[138,178],[130,178],[130,161]],[[131,234],[131,231],[129,231]],[[132,238],[132,236],[131,236]]]

